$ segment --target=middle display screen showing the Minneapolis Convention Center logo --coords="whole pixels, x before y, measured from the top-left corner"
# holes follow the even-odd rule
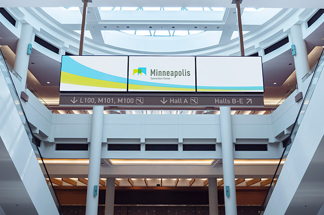
[[[195,59],[130,56],[128,83],[130,92],[195,92]]]

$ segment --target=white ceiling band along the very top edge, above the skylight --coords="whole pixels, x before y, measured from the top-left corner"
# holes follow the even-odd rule
[[[235,7],[232,0],[92,0],[90,7],[98,6],[220,6]],[[81,0],[2,0],[1,7],[71,7],[82,6]],[[323,0],[243,0],[242,7],[268,8],[324,8]]]

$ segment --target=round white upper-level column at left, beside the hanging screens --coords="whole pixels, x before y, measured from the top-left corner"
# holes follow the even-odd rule
[[[17,42],[16,57],[14,60],[14,71],[21,76],[21,89],[24,90],[27,81],[29,55],[27,54],[28,44],[31,43],[33,27],[30,24],[22,24],[20,38]],[[41,63],[41,62],[40,62]]]

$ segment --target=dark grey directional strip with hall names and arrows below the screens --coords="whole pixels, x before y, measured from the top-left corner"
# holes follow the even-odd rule
[[[262,96],[60,96],[60,105],[131,107],[263,106]]]

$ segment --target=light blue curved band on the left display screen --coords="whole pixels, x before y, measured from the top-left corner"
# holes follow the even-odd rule
[[[103,81],[111,81],[127,84],[127,78],[122,78],[107,73],[99,72],[97,70],[91,69],[87,66],[84,66],[70,56],[62,57],[62,69],[63,72],[70,73],[73,75],[78,75],[86,78],[98,79]]]

